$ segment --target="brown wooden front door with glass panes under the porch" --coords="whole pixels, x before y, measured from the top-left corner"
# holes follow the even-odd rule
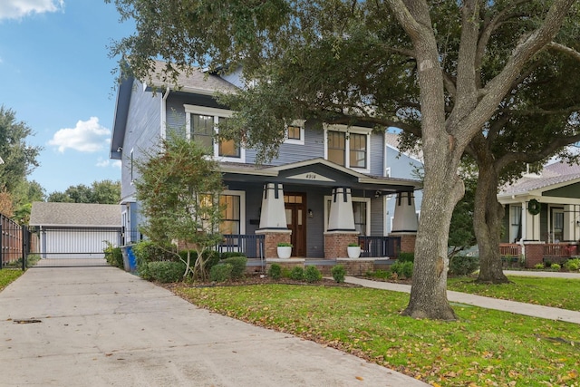
[[[306,195],[286,193],[284,206],[287,227],[292,230],[292,256],[306,256]]]

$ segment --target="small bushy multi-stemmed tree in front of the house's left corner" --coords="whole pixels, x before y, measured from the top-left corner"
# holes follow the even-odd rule
[[[219,194],[224,188],[218,162],[207,156],[207,149],[170,131],[159,150],[134,160],[145,219],[140,231],[160,247],[176,243],[187,251],[184,278],[191,273],[205,279],[206,252],[221,239]],[[192,249],[197,252],[193,265]]]

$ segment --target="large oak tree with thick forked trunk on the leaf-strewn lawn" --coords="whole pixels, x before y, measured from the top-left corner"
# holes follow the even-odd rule
[[[111,47],[129,63],[124,73],[147,79],[159,57],[168,61],[168,81],[194,64],[242,66],[251,87],[224,98],[238,112],[220,133],[241,136],[263,160],[275,156],[284,124],[296,118],[420,134],[424,194],[404,314],[456,318],[446,284],[449,222],[464,192],[459,161],[500,102],[517,92],[527,64],[558,43],[575,0],[115,3],[137,28]],[[503,15],[518,11],[499,39]],[[493,73],[482,77],[491,62]]]

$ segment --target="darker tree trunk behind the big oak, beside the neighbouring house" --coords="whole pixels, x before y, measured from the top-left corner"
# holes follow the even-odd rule
[[[478,187],[475,193],[473,228],[479,248],[478,282],[505,284],[499,256],[499,240],[504,208],[498,203],[498,171],[490,161],[478,160]]]

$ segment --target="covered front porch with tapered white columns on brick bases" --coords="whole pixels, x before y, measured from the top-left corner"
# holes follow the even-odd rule
[[[362,247],[362,257],[414,249],[419,181],[365,175],[324,159],[221,169],[224,196],[231,197],[221,251],[277,258],[278,244],[286,243],[293,257],[336,259],[347,256],[349,244]]]

